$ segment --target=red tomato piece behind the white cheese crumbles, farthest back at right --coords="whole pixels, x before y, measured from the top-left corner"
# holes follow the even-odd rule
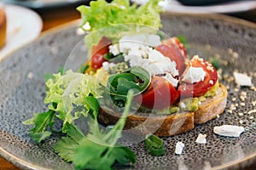
[[[181,54],[177,46],[175,44],[169,44],[168,46],[165,44],[161,44],[157,46],[155,49],[158,50],[161,54],[171,59],[171,61],[176,62],[176,69],[178,71],[179,76],[181,76],[186,68],[185,57],[183,56],[183,54]]]

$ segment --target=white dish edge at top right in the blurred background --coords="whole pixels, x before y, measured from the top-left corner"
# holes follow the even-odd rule
[[[139,4],[145,3],[148,0],[133,0]],[[256,9],[255,0],[241,0],[229,3],[217,3],[207,6],[185,6],[177,0],[164,0],[161,2],[163,8],[169,12],[178,13],[221,13],[234,14]]]

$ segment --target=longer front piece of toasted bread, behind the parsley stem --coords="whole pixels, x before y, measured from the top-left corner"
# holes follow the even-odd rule
[[[113,125],[119,120],[120,113],[103,107],[99,112],[99,122]],[[176,113],[168,116],[148,114],[130,115],[126,119],[125,129],[137,128],[143,134],[154,133],[157,136],[172,136],[194,128],[194,112]]]

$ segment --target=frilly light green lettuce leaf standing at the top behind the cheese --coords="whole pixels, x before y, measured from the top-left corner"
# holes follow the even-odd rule
[[[90,6],[81,5],[77,9],[81,14],[80,27],[90,34],[85,36],[85,43],[90,49],[102,36],[114,40],[125,31],[136,31],[137,25],[148,26],[153,30],[161,27],[160,0],[150,0],[142,6],[130,4],[129,0],[91,1]],[[127,26],[129,24],[129,26]]]

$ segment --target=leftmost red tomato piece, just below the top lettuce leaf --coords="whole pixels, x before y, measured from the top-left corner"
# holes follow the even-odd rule
[[[108,47],[111,43],[112,42],[108,37],[102,37],[101,41],[92,47],[92,56],[90,59],[90,66],[92,68],[99,69],[102,67],[102,63],[106,61],[106,59],[104,59],[104,54],[108,54]]]

